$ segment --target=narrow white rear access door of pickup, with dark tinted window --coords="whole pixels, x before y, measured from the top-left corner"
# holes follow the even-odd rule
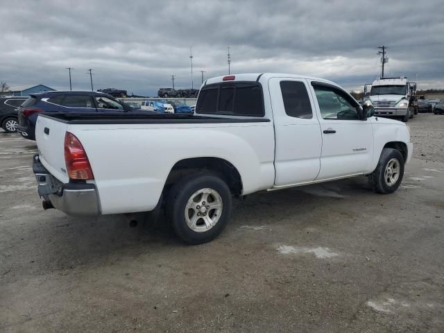
[[[307,80],[271,78],[275,124],[275,187],[310,182],[318,176],[321,128]]]

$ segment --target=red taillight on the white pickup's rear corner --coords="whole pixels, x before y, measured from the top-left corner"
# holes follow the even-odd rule
[[[69,178],[78,180],[94,179],[85,149],[83,149],[76,136],[69,132],[65,135],[65,162]]]

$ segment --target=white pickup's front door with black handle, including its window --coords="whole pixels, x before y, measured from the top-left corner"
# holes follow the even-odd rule
[[[359,105],[339,87],[311,82],[322,130],[321,172],[317,180],[365,173],[373,160],[373,128],[361,120]]]

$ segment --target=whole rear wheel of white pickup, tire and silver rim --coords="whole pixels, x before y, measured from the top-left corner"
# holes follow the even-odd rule
[[[216,238],[227,225],[232,196],[218,176],[194,174],[173,185],[165,207],[179,239],[202,244]]]

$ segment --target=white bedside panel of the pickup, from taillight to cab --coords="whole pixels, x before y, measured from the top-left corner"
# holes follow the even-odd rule
[[[153,210],[174,164],[219,157],[243,194],[273,186],[273,123],[71,125],[92,166],[102,214]]]

